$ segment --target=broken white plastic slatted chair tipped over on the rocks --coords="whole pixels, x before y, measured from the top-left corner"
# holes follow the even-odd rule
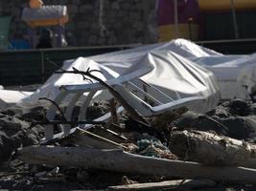
[[[144,72],[145,73],[145,72]],[[138,73],[140,74],[140,73]],[[143,71],[141,71],[143,74]],[[121,96],[123,96],[128,104],[133,107],[140,115],[143,117],[152,117],[163,113],[164,111],[174,110],[180,107],[184,107],[191,102],[204,100],[203,96],[189,96],[181,97],[177,92],[173,92],[172,95],[166,95],[161,90],[151,86],[147,82],[136,78],[138,76],[129,77],[117,77],[107,81],[107,84],[113,87]],[[126,80],[127,81],[126,81]],[[98,91],[105,90],[105,87],[100,83],[84,84],[84,85],[63,85],[60,87],[60,93],[55,98],[55,103],[58,105],[67,97],[70,96],[67,108],[64,112],[64,117],[67,120],[72,120],[72,114],[76,108],[76,103],[79,101],[84,93],[87,95],[80,107],[79,120],[86,120],[86,111],[93,97],[98,93]],[[111,93],[110,93],[111,94]],[[113,96],[112,96],[113,97]],[[118,104],[117,113],[124,111],[122,103]],[[58,108],[55,104],[52,104],[47,111],[46,117],[51,121],[57,116]],[[110,118],[110,113],[105,114],[102,117],[94,119],[95,121],[105,121]],[[92,125],[78,125],[82,129],[91,127]],[[54,133],[54,126],[48,125],[45,127],[45,138],[43,140],[49,140],[53,138],[59,138],[69,135],[74,132],[70,125],[59,125],[60,133]]]

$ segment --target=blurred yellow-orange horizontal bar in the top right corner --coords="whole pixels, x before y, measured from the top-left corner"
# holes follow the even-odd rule
[[[231,0],[198,0],[201,11],[231,10]],[[256,9],[256,0],[234,0],[237,10]]]

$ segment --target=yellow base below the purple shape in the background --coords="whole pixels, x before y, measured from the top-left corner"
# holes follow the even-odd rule
[[[198,40],[199,26],[197,24],[178,24],[178,36],[175,25],[164,25],[158,28],[159,42],[169,41],[175,38]]]

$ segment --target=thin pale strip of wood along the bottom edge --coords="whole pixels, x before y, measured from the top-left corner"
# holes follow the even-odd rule
[[[109,190],[161,190],[161,189],[196,189],[216,186],[213,180],[168,180],[151,183],[133,183],[127,185],[109,186]]]

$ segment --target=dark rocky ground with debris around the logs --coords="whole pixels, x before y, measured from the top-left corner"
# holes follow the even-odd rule
[[[34,122],[45,121],[49,106],[47,101],[23,103],[7,108],[0,113],[0,189],[4,190],[105,190],[111,185],[134,182],[167,180],[165,177],[129,175],[95,169],[64,168],[61,166],[29,165],[16,159],[15,151],[27,145],[40,144],[43,126]],[[105,104],[95,104],[90,108],[91,117],[102,115],[107,110]],[[256,104],[242,100],[221,103],[206,115],[189,111],[182,117],[174,116],[151,119],[153,131],[144,132],[144,127],[134,128],[136,123],[120,118],[127,128],[117,130],[128,138],[122,141],[113,135],[103,133],[102,128],[92,128],[91,132],[124,143],[130,152],[155,158],[177,159],[167,148],[168,138],[175,129],[196,129],[210,131],[230,138],[255,142]],[[168,114],[169,115],[169,114]],[[126,127],[125,125],[125,127]],[[138,124],[137,124],[138,125]],[[133,128],[132,128],[133,127]],[[60,142],[53,144],[59,145]],[[68,145],[65,145],[68,146]],[[72,145],[74,146],[74,145]],[[166,190],[166,189],[165,189]],[[179,189],[180,190],[180,189]],[[255,190],[251,185],[226,185],[216,182],[211,188],[197,190]]]

